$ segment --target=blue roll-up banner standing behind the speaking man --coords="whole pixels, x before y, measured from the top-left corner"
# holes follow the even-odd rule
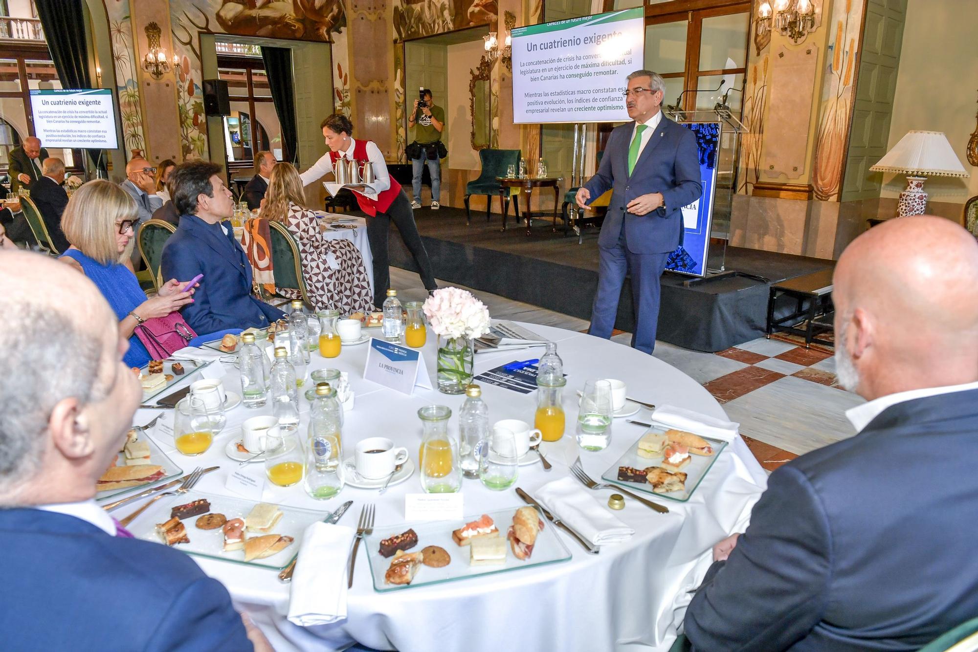
[[[683,243],[669,254],[666,269],[689,276],[706,276],[706,256],[710,250],[713,221],[713,196],[717,185],[717,156],[720,150],[720,122],[680,122],[696,134],[699,149],[699,174],[703,194],[683,206]]]

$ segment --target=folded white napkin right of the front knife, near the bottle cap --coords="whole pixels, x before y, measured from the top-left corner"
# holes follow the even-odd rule
[[[635,534],[570,476],[547,483],[537,491],[537,498],[581,538],[595,545],[621,543]]]

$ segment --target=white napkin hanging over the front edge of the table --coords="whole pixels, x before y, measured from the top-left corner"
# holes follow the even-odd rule
[[[306,528],[292,574],[289,622],[301,627],[346,618],[347,556],[356,530],[317,522]]]

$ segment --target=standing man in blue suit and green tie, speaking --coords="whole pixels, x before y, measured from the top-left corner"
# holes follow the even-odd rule
[[[662,77],[651,70],[628,75],[625,106],[634,121],[615,127],[598,173],[577,191],[581,208],[612,191],[598,239],[589,332],[611,336],[629,273],[636,313],[632,346],[649,354],[659,319],[659,278],[669,254],[683,243],[680,208],[702,194],[696,136],[662,114],[664,93]]]

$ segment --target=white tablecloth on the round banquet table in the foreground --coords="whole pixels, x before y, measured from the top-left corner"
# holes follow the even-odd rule
[[[599,453],[578,449],[574,438],[575,392],[588,379],[613,377],[624,380],[629,396],[655,405],[672,405],[726,418],[716,400],[685,373],[635,349],[609,340],[551,326],[522,325],[542,337],[557,342],[567,373],[564,406],[567,430],[558,442],[544,442],[541,450],[554,464],[545,472],[540,464],[521,466],[517,486],[531,496],[544,484],[569,473],[568,465],[580,455],[585,470],[593,478],[601,473],[644,432],[640,425],[614,420],[611,444]],[[378,330],[368,329],[375,333]],[[382,435],[397,446],[417,450],[422,424],[416,413],[432,403],[452,409],[450,432],[458,434],[458,411],[464,396],[449,396],[436,390],[415,388],[408,396],[381,387],[363,378],[368,344],[344,347],[338,358],[326,360],[312,353],[311,369],[332,367],[349,372],[356,392],[355,405],[346,414],[343,426],[344,456],[365,437]],[[435,379],[436,343],[428,332],[422,349],[425,365]],[[480,353],[475,356],[475,372],[507,362],[538,357],[542,349]],[[241,391],[238,371],[230,364],[225,386]],[[199,376],[195,376],[199,377]],[[436,384],[436,383],[435,383]],[[489,384],[483,385],[483,398],[491,421],[520,418],[532,422],[536,394],[518,394]],[[300,398],[307,426],[308,403]],[[190,458],[164,448],[185,470],[198,465],[221,464],[217,471],[203,476],[196,489],[202,492],[235,496],[225,488],[231,469],[237,467],[224,454],[225,444],[240,434],[245,418],[271,413],[270,405],[257,410],[238,407],[228,413],[228,424],[202,456]],[[145,423],[156,411],[142,410],[135,423]],[[643,409],[632,416],[647,420]],[[163,418],[172,419],[172,413]],[[303,430],[304,432],[304,430]],[[156,439],[156,438],[155,438]],[[158,442],[159,440],[156,439]],[[414,458],[413,454],[412,457]],[[276,650],[341,650],[353,641],[378,649],[404,652],[430,650],[668,650],[675,639],[689,604],[689,589],[698,586],[710,564],[713,543],[746,526],[750,509],[766,486],[767,476],[738,437],[724,450],[688,502],[657,499],[669,507],[659,514],[635,500],[626,498],[623,510],[615,516],[634,528],[636,534],[626,543],[604,545],[600,554],[588,554],[562,531],[558,531],[571,551],[569,561],[475,579],[447,582],[429,587],[378,593],[374,590],[365,546],[360,546],[354,584],[348,593],[347,618],[332,625],[302,628],[286,619],[289,585],[278,581],[276,573],[194,557],[207,575],[216,578],[231,592],[239,610],[247,611],[265,631]],[[301,483],[280,488],[266,483],[263,500],[319,510],[333,510],[345,500],[353,500],[340,524],[356,527],[361,507],[377,505],[375,532],[384,526],[403,523],[405,495],[420,493],[417,469],[406,482],[391,486],[383,496],[376,490],[345,487],[332,500],[312,500]],[[601,504],[610,490],[593,492]],[[464,480],[465,513],[480,514],[523,503],[513,489],[494,492],[478,480]],[[120,508],[121,509],[121,508]],[[124,510],[121,513],[125,513]],[[118,514],[116,514],[118,516]],[[548,523],[547,527],[554,527]],[[452,551],[454,552],[454,550]],[[342,560],[345,562],[345,558]]]

